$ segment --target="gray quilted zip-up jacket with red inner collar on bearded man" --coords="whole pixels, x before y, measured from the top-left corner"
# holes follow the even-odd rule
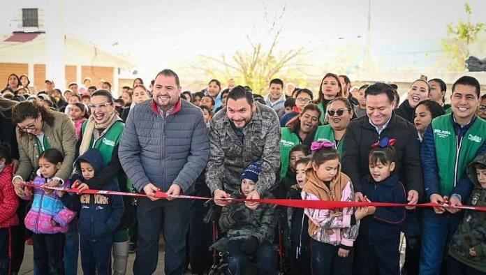
[[[167,191],[175,183],[188,193],[209,154],[202,110],[179,99],[163,117],[154,101],[135,105],[126,120],[118,153],[138,191],[149,183]]]

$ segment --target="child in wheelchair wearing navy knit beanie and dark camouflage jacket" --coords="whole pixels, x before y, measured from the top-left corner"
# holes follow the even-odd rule
[[[231,197],[246,198],[255,190],[260,172],[261,163],[251,163],[242,174],[240,193]],[[272,198],[267,194],[262,197]],[[258,274],[276,274],[277,253],[272,246],[276,223],[273,205],[260,204],[251,210],[242,202],[231,202],[223,207],[219,226],[228,238],[226,251],[231,274],[244,274],[251,259],[256,262]]]

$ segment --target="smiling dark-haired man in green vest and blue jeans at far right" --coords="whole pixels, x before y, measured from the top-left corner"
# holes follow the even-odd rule
[[[448,237],[461,219],[459,209],[453,207],[465,202],[473,188],[466,167],[486,152],[486,121],[476,116],[479,96],[480,84],[476,78],[459,78],[452,86],[452,113],[436,117],[422,140],[427,198],[450,207],[423,211],[420,274],[440,273]]]

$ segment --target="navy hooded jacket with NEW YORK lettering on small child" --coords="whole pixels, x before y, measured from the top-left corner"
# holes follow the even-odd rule
[[[90,163],[95,171],[101,171],[105,163],[98,149],[89,149],[75,162],[80,171],[80,161]],[[84,182],[86,182],[84,180]],[[112,181],[104,185],[105,191],[119,191],[118,184]],[[78,231],[82,237],[101,239],[115,232],[124,213],[124,204],[119,195],[103,194],[66,194],[61,198],[64,206],[80,211]]]

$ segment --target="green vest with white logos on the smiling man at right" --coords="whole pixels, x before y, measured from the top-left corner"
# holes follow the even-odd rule
[[[436,161],[439,168],[441,195],[450,196],[452,189],[466,173],[466,168],[485,142],[486,121],[476,117],[462,140],[457,140],[452,126],[452,114],[436,117],[432,121],[436,147]]]

